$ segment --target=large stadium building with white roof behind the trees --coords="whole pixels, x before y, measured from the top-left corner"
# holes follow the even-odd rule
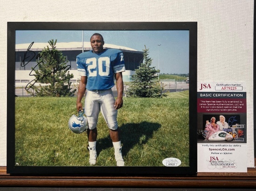
[[[27,83],[34,80],[34,76],[29,76],[32,68],[37,64],[36,55],[38,55],[48,43],[34,43],[34,44],[17,44],[15,46],[15,86],[26,86]],[[84,48],[82,48],[84,47]],[[130,82],[131,76],[135,73],[135,69],[138,69],[141,62],[143,62],[143,52],[137,51],[124,46],[105,44],[104,48],[115,48],[123,52],[126,71],[122,73],[123,81]],[[74,75],[71,82],[77,83],[80,76],[77,72],[76,56],[82,53],[82,49],[85,51],[92,50],[90,42],[69,42],[69,43],[56,43],[56,49],[61,51],[67,58],[68,65],[71,65],[70,73]],[[29,51],[28,51],[29,50]],[[26,55],[26,56],[25,56]],[[26,57],[25,63],[22,61]],[[31,60],[31,61],[29,61]],[[28,63],[27,63],[28,62]],[[35,68],[38,70],[38,67]],[[32,73],[33,74],[33,73]]]

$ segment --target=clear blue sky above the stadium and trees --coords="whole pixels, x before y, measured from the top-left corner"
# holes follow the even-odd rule
[[[142,51],[149,49],[152,66],[160,73],[189,73],[189,31],[83,31],[84,41],[89,42],[94,32],[101,33],[106,44],[126,46]],[[16,31],[16,44],[58,42],[82,42],[82,31]],[[57,46],[58,48],[58,46]],[[86,47],[85,47],[86,48]]]

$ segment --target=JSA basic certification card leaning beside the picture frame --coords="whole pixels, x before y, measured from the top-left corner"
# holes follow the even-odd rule
[[[246,84],[197,83],[198,172],[247,172]]]

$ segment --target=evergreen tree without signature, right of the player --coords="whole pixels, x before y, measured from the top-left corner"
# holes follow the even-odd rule
[[[162,97],[161,83],[156,80],[159,70],[151,67],[152,58],[148,57],[149,49],[143,49],[143,60],[139,69],[135,70],[132,76],[132,83],[127,91],[128,96],[132,97]]]

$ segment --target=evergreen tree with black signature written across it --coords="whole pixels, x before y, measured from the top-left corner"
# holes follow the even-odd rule
[[[32,96],[73,96],[76,89],[71,90],[70,79],[74,77],[70,74],[70,65],[67,65],[66,57],[62,52],[56,50],[57,40],[51,39],[48,41],[49,46],[44,48],[37,55],[37,64],[39,70],[34,70],[36,82],[44,85],[35,86],[30,88],[34,91],[31,92]]]

